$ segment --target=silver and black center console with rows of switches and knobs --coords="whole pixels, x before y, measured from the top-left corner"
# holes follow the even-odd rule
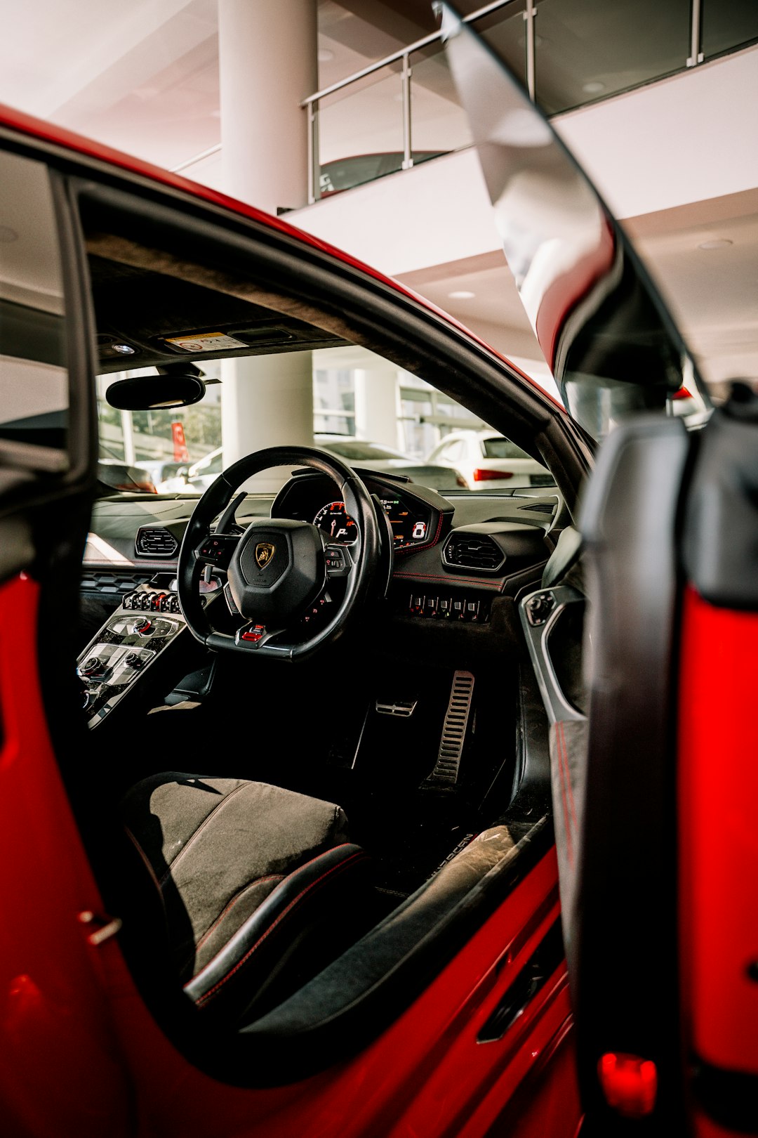
[[[139,585],[122,599],[77,660],[90,727],[102,723],[138,676],[153,666],[185,628],[176,593],[155,582]]]

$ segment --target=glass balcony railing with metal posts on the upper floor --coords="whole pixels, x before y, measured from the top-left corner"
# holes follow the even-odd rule
[[[464,17],[549,115],[758,41],[758,0],[494,0]],[[303,101],[309,203],[470,146],[439,33]]]

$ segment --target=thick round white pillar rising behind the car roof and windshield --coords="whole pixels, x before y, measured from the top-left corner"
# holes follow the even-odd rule
[[[272,214],[308,198],[300,101],[317,86],[316,50],[316,0],[218,0],[222,188]],[[313,445],[310,352],[225,361],[222,382],[225,465],[265,446]]]

